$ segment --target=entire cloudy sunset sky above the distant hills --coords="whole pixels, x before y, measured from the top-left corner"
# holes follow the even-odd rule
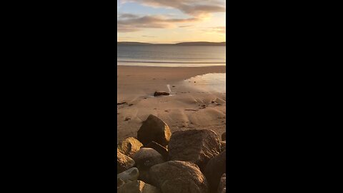
[[[225,0],[117,0],[117,41],[225,41]]]

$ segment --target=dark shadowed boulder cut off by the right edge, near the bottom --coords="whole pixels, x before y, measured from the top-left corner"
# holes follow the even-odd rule
[[[209,182],[209,187],[211,187],[211,189],[217,190],[220,177],[222,177],[224,173],[227,173],[226,154],[227,151],[225,150],[224,152],[209,160],[209,163],[206,166],[204,174],[207,181]]]

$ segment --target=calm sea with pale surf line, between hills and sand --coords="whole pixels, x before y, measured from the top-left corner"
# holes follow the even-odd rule
[[[117,65],[224,66],[226,46],[120,45]]]

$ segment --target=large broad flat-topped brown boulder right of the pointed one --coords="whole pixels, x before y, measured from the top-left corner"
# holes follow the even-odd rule
[[[220,152],[217,134],[208,129],[189,129],[174,132],[169,142],[168,160],[197,164],[203,171],[209,159]]]

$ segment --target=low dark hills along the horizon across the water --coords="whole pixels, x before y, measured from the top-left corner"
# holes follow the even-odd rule
[[[117,45],[174,45],[174,46],[226,46],[226,42],[208,42],[208,41],[194,41],[194,42],[181,42],[177,44],[151,44],[151,43],[142,43],[136,41],[118,41]]]

